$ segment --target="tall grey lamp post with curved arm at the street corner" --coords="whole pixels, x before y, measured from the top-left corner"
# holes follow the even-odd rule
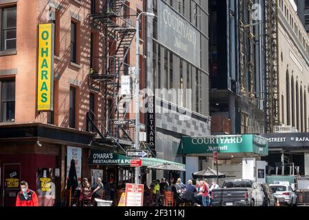
[[[135,144],[134,148],[139,150],[139,22],[141,15],[155,17],[155,14],[149,12],[141,12],[137,16],[136,21],[136,78],[135,78]],[[135,167],[135,184],[139,184],[140,168]]]

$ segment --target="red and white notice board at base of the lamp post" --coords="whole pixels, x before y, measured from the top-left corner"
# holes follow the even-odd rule
[[[126,206],[143,206],[144,185],[126,184]]]

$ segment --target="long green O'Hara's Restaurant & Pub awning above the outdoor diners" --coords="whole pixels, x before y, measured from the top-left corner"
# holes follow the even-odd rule
[[[185,164],[179,164],[176,162],[171,162],[165,159],[158,158],[141,158],[142,166],[153,166],[159,164],[172,164],[179,168],[185,169]],[[126,155],[121,155],[118,153],[113,153],[109,151],[91,151],[91,155],[88,160],[89,165],[119,165],[119,166],[130,166],[130,158],[126,157]]]

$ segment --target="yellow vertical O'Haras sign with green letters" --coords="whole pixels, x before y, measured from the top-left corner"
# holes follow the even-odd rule
[[[54,24],[38,25],[38,111],[53,111]]]

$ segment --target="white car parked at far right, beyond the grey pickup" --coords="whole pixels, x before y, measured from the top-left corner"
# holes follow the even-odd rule
[[[269,186],[275,197],[279,199],[279,203],[284,203],[289,206],[297,205],[297,195],[289,185],[271,184]]]

